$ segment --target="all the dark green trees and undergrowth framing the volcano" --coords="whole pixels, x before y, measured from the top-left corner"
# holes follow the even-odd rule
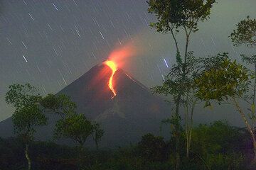
[[[169,127],[166,139],[151,133],[127,147],[100,147],[105,131],[94,120],[77,113],[69,96],[42,96],[31,84],[11,84],[6,103],[13,106],[16,137],[0,138],[0,169],[256,169],[256,55],[240,54],[241,62],[228,53],[194,56],[189,50],[199,23],[210,19],[215,0],[149,0],[150,24],[169,33],[176,49],[176,63],[153,94],[168,98],[173,108],[159,123]],[[221,2],[220,2],[221,3]],[[178,38],[183,35],[184,39]],[[245,17],[230,35],[233,45],[256,47],[256,19]],[[180,40],[181,39],[181,40]],[[181,45],[184,43],[184,47]],[[195,125],[196,108],[233,106],[245,128],[226,120]],[[46,112],[58,115],[53,139],[70,139],[73,146],[35,140],[36,130],[48,124]],[[225,113],[223,113],[225,114]],[[86,147],[91,138],[95,148]]]

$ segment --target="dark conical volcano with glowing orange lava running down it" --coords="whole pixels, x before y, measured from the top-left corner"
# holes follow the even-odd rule
[[[170,115],[170,106],[122,69],[102,62],[58,92],[70,96],[87,118],[105,130],[102,147],[138,142],[142,135],[159,134],[161,120]],[[50,140],[57,115],[49,114],[48,125],[38,130],[38,140]],[[13,135],[11,118],[0,123],[0,136]]]

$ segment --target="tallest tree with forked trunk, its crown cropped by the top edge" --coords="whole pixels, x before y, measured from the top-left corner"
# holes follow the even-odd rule
[[[181,72],[183,75],[183,80],[185,80],[186,64],[188,59],[188,44],[191,33],[196,33],[198,31],[199,21],[203,22],[209,18],[210,8],[212,8],[215,0],[149,0],[147,3],[149,4],[149,13],[154,13],[157,17],[156,23],[151,23],[150,26],[152,28],[156,28],[159,33],[171,33],[176,46],[176,62],[177,64],[182,64]],[[176,38],[176,35],[181,30],[183,30],[186,35],[186,45],[183,52],[183,60],[181,59],[181,50]],[[178,120],[178,124],[180,124],[179,106],[181,104],[181,96],[183,94],[183,91],[181,91],[174,98],[174,102],[176,103],[175,115],[177,117],[176,120]],[[176,129],[179,129],[178,125]],[[180,132],[177,132],[177,134],[179,133]],[[180,135],[178,135],[176,139],[176,169],[179,169],[180,166],[179,136]]]

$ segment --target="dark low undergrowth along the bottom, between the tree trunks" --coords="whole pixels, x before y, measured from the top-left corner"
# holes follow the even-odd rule
[[[182,159],[182,170],[247,169],[246,159],[253,152],[246,142],[251,140],[247,131],[232,127],[225,121],[217,121],[194,127],[192,139],[193,152],[190,159]],[[81,169],[174,169],[174,149],[169,147],[169,143],[172,144],[171,141],[164,141],[162,137],[148,134],[137,145],[105,151],[86,150],[83,152],[86,152],[87,157],[82,157],[85,164]],[[1,169],[25,169],[25,158],[21,152],[23,145],[20,141],[0,138],[0,148]],[[247,148],[250,150],[247,151]],[[185,152],[185,147],[181,149],[181,152]],[[77,147],[61,146],[53,142],[31,142],[30,151],[35,170],[78,169],[75,164],[78,158]],[[171,157],[166,157],[169,155]],[[9,164],[13,160],[16,160],[15,163]]]

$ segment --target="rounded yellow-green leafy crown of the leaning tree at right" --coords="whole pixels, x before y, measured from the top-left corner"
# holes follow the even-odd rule
[[[250,79],[248,70],[242,64],[228,59],[227,54],[218,57],[217,60],[211,58],[212,62],[206,64],[201,76],[196,78],[196,95],[203,101],[226,101],[229,97],[242,96],[247,91]]]

